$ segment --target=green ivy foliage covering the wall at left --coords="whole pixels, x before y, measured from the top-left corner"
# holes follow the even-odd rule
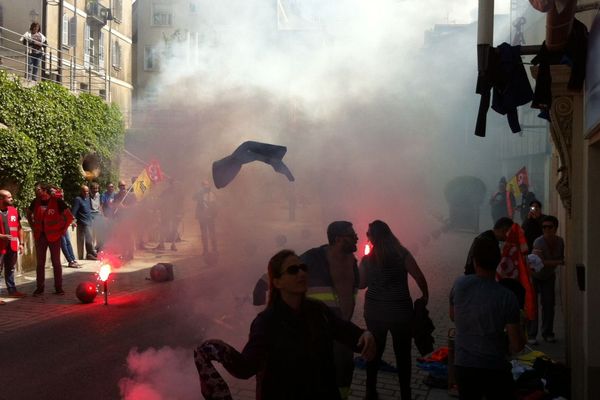
[[[118,175],[123,117],[116,105],[89,94],[75,96],[52,82],[23,87],[0,71],[0,188],[10,187],[19,207],[33,198],[33,184],[62,187],[70,199],[84,183],[81,160],[95,154],[105,184]]]

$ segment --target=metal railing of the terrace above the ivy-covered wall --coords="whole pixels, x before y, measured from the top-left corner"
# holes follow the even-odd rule
[[[73,92],[108,100],[109,77],[103,58],[90,54],[80,59],[70,54],[71,48],[61,50],[48,45],[38,53],[22,37],[22,33],[0,26],[0,70],[27,81],[57,82]]]

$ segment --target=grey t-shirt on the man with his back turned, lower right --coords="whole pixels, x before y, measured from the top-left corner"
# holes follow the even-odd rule
[[[517,297],[492,279],[459,277],[450,292],[456,325],[455,365],[505,369],[506,324],[519,323]]]

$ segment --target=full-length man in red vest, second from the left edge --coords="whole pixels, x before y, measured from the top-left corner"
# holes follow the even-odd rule
[[[34,296],[44,293],[46,251],[50,249],[50,259],[54,270],[55,294],[64,295],[62,288],[62,266],[60,264],[60,238],[73,222],[73,214],[63,199],[52,196],[50,186],[39,183],[35,186],[36,198],[27,209],[27,220],[33,229],[37,254],[36,282]]]

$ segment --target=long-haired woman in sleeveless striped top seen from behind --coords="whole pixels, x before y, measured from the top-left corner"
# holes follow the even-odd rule
[[[394,341],[401,398],[409,400],[413,303],[408,289],[408,274],[421,289],[425,304],[429,297],[427,281],[413,256],[400,244],[385,222],[376,220],[370,223],[367,237],[373,249],[361,260],[360,288],[367,288],[364,317],[367,328],[375,336],[377,354],[367,363],[365,399],[378,398],[377,371],[389,331]]]

